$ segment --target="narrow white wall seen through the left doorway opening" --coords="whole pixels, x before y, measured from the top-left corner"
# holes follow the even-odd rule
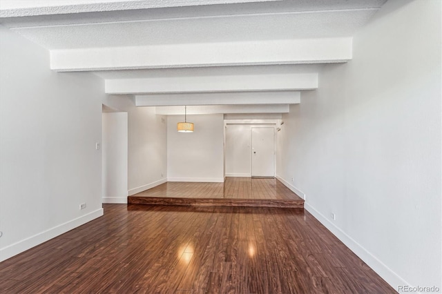
[[[127,112],[102,115],[102,200],[127,203],[128,195]]]

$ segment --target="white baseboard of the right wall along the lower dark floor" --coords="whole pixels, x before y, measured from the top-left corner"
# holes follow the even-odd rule
[[[324,215],[322,215],[318,210],[316,210],[313,206],[305,203],[304,208],[311,213],[318,221],[323,224],[330,232],[333,233],[341,242],[345,244],[354,254],[356,254],[359,258],[361,258],[370,268],[373,269],[378,275],[380,275],[385,282],[390,284],[394,288],[394,290],[398,291],[399,285],[410,285],[410,283],[405,282],[403,278],[399,277],[392,269],[383,264],[381,260],[377,259],[372,253],[367,251],[361,244],[358,244],[352,237],[347,235],[344,231],[342,231],[338,226],[333,224],[327,219]]]

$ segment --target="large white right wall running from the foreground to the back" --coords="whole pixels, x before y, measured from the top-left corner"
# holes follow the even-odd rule
[[[278,175],[396,290],[442,288],[441,1],[388,1],[319,79],[282,117]]]

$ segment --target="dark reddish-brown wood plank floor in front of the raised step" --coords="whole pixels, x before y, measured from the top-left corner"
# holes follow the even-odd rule
[[[395,293],[304,210],[105,204],[0,263],[0,293]]]

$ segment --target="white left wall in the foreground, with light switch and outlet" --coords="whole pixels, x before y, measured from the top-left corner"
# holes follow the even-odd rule
[[[1,261],[103,214],[104,82],[2,26],[0,63]]]

